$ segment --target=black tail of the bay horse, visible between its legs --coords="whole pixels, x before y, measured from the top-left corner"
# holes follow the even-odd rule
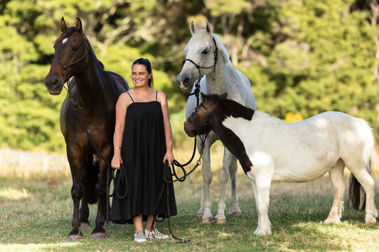
[[[95,185],[99,180],[100,166],[98,161],[94,161],[93,155],[87,156],[87,185],[85,188],[87,203],[95,204],[97,202],[97,195]]]

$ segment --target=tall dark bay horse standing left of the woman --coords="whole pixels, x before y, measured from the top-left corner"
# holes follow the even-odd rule
[[[60,31],[54,42],[55,56],[45,86],[50,94],[58,95],[65,82],[73,77],[60,110],[60,128],[73,178],[73,229],[68,241],[83,238],[80,227],[90,225],[88,204],[96,202],[97,216],[91,238],[101,239],[105,236],[106,161],[109,163],[113,155],[115,104],[119,94],[129,86],[121,75],[104,70],[82,30],[80,18],[70,28],[62,18]],[[106,160],[97,153],[85,128]]]

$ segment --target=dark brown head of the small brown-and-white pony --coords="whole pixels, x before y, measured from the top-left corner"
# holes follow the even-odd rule
[[[188,136],[198,136],[208,133],[213,130],[213,112],[218,106],[218,103],[225,100],[227,93],[208,94],[201,92],[201,104],[196,106],[195,111],[184,122],[184,131]]]

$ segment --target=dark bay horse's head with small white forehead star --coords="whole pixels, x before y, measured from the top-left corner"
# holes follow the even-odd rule
[[[60,31],[62,33],[54,41],[54,60],[45,78],[45,86],[50,94],[60,94],[63,84],[85,70],[88,63],[90,45],[82,31],[80,18],[76,18],[75,26],[70,28],[62,18]]]

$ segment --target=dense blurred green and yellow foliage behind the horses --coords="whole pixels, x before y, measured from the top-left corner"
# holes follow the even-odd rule
[[[62,150],[64,94],[43,86],[53,40],[65,17],[82,19],[97,57],[131,84],[137,57],[154,66],[169,97],[176,145],[183,136],[186,94],[176,85],[191,37],[205,20],[249,77],[260,111],[284,119],[344,111],[378,123],[378,2],[375,0],[3,0],[0,2],[0,146]],[[376,56],[376,57],[375,57]],[[300,116],[300,117],[301,117]],[[191,145],[190,145],[191,146]]]

